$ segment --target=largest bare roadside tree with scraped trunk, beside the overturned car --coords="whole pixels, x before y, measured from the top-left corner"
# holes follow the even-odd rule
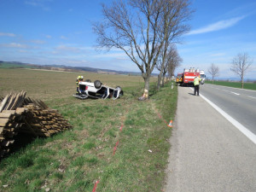
[[[98,48],[122,49],[129,56],[142,72],[142,98],[147,99],[150,75],[166,39],[189,31],[189,0],[119,0],[102,8],[104,20],[93,26]]]

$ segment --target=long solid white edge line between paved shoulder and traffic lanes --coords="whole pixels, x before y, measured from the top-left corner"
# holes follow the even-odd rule
[[[192,89],[192,88],[191,88]],[[211,102],[210,100],[207,99],[207,97],[202,96],[200,94],[201,98],[203,98],[206,102],[208,102],[212,108],[215,108],[218,113],[222,114],[224,116],[225,119],[227,119],[228,121],[230,121],[231,124],[233,124],[234,126],[236,126],[236,128],[241,131],[241,133],[243,133],[246,137],[248,137],[254,144],[256,144],[256,135],[254,135],[254,133],[252,131],[249,131],[244,125],[241,125],[241,123],[239,123],[236,119],[233,119],[228,113],[225,113],[224,110],[222,110],[221,108],[218,108],[217,105],[215,105],[213,102]]]

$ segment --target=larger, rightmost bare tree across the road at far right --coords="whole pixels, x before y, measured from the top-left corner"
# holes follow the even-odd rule
[[[252,63],[253,60],[247,53],[239,53],[233,58],[230,70],[236,73],[241,79],[241,89],[243,89],[243,78]]]

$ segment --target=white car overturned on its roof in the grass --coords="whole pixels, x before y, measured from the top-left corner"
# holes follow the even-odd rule
[[[79,82],[79,94],[73,95],[79,99],[86,99],[88,96],[92,98],[113,98],[113,100],[123,96],[124,92],[121,87],[117,86],[116,88],[111,88],[106,85],[103,85],[101,81],[96,80],[94,83],[91,83],[90,80],[85,80]]]

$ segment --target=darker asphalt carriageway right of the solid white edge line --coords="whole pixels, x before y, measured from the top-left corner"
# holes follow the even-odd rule
[[[200,93],[256,135],[256,91],[202,84]]]

